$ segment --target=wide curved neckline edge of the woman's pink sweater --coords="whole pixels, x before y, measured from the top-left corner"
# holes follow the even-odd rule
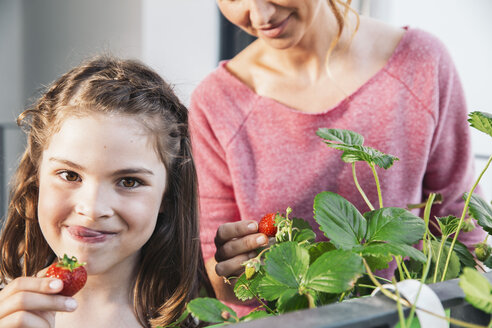
[[[405,33],[401,37],[400,41],[396,45],[395,49],[393,50],[393,53],[391,56],[388,58],[386,63],[381,67],[374,75],[372,75],[366,82],[364,82],[359,88],[357,88],[354,92],[352,92],[350,95],[347,97],[343,98],[340,100],[337,104],[334,106],[331,106],[328,109],[325,109],[321,112],[317,113],[308,113],[308,112],[303,112],[300,110],[297,110],[295,108],[292,108],[288,105],[285,105],[273,98],[262,96],[257,94],[253,89],[251,89],[246,83],[244,83],[241,79],[239,79],[237,76],[232,74],[227,68],[226,65],[230,61],[228,60],[222,60],[219,62],[219,72],[222,72],[227,76],[227,78],[235,84],[236,87],[239,88],[239,90],[245,94],[248,95],[252,98],[255,99],[255,102],[257,103],[258,101],[263,101],[263,102],[270,102],[272,104],[275,104],[276,107],[280,107],[281,109],[289,112],[293,112],[298,115],[308,115],[308,116],[316,116],[316,115],[325,115],[327,113],[331,113],[332,111],[344,107],[344,105],[352,98],[357,96],[359,93],[361,93],[364,89],[372,85],[382,74],[384,74],[386,71],[388,71],[388,68],[393,64],[393,62],[398,58],[398,55],[401,53],[403,49],[405,49],[406,44],[408,43],[408,39],[411,38],[411,32],[414,31],[414,29],[410,29],[408,26],[404,26],[403,29],[405,29]]]

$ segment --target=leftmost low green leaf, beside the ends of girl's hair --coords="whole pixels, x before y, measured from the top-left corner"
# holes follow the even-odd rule
[[[211,323],[237,322],[236,312],[215,298],[195,298],[188,303],[186,308],[195,318],[201,321]],[[229,318],[223,316],[225,312],[229,313]]]

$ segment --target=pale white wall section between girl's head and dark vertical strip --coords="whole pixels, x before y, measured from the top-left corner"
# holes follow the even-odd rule
[[[175,85],[188,105],[217,65],[218,11],[212,0],[143,0],[142,59]]]

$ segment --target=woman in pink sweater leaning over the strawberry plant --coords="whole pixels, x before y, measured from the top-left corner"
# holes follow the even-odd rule
[[[353,130],[400,158],[380,173],[385,206],[406,207],[436,192],[444,203],[431,217],[461,214],[473,179],[470,133],[458,75],[439,40],[359,17],[350,0],[217,3],[257,37],[221,62],[190,104],[202,249],[220,299],[237,302],[220,276],[241,273],[267,242],[251,219],[290,206],[291,216],[315,227],[313,199],[321,191],[369,210],[350,165],[315,135],[318,128]],[[357,172],[377,203],[370,169]],[[460,237],[472,245],[485,235],[476,229]]]

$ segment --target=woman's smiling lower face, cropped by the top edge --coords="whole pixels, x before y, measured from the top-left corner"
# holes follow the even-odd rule
[[[326,0],[217,0],[231,23],[267,44],[285,49],[296,45],[312,27]]]

